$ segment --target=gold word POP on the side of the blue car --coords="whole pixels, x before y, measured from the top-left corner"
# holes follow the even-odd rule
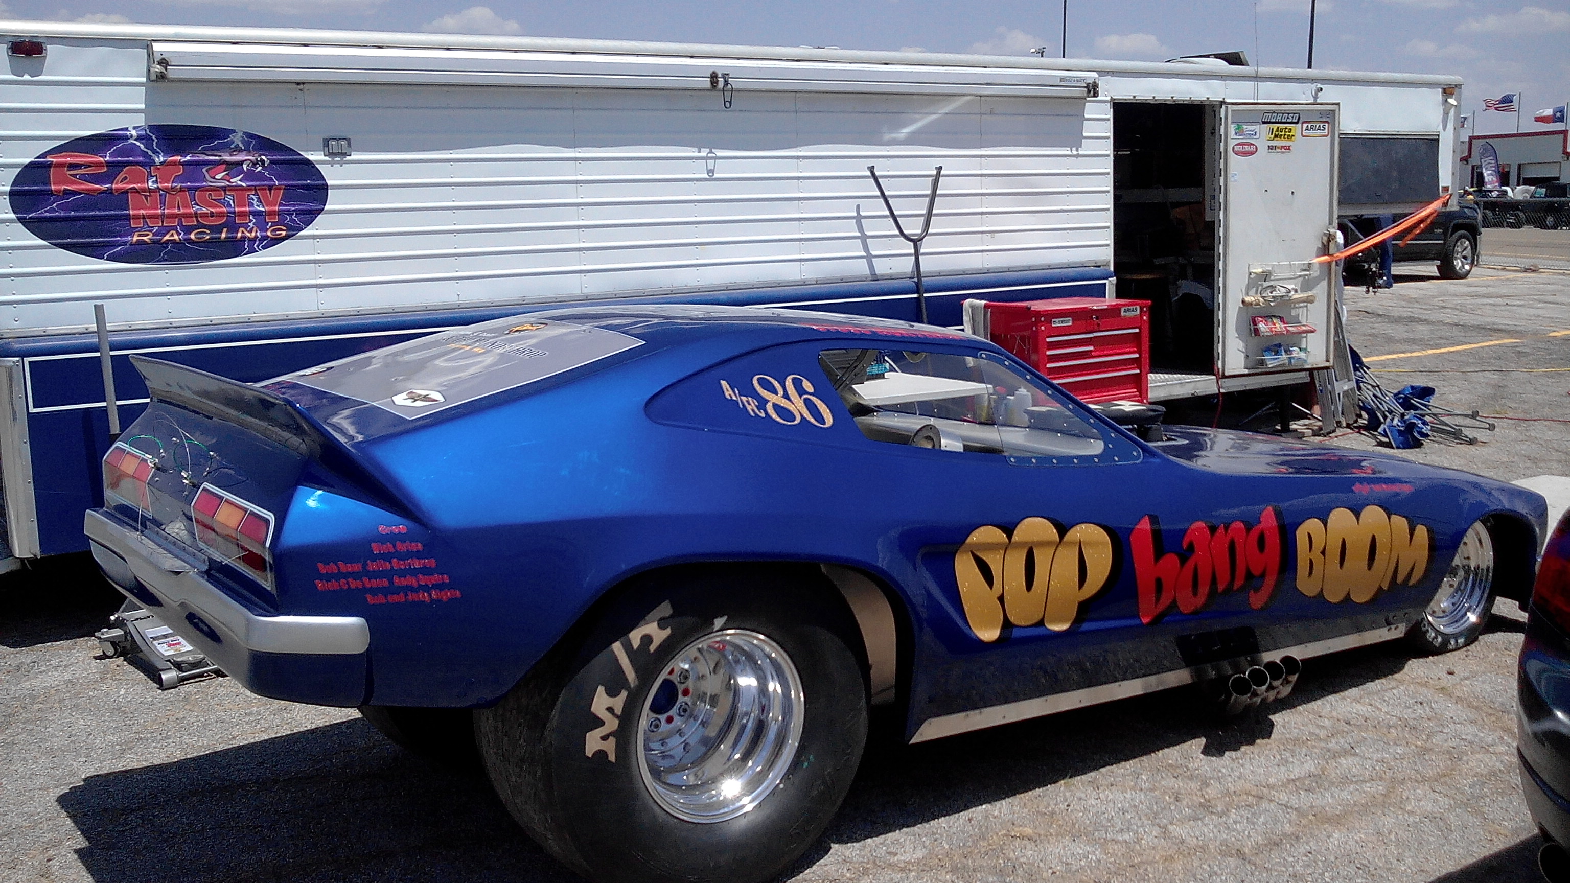
[[[1101,525],[1074,525],[1060,534],[1047,518],[1030,517],[1013,536],[991,525],[970,531],[955,553],[955,580],[966,622],[977,638],[997,641],[1005,617],[1017,627],[1064,632],[1080,605],[1112,583],[1116,547]]]

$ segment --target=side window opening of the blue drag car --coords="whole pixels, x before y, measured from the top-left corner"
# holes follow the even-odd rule
[[[832,349],[818,363],[873,442],[1010,457],[1093,457],[1107,446],[1060,394],[1000,361]]]

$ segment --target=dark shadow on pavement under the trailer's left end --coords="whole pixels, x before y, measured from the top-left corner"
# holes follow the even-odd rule
[[[91,555],[44,558],[0,577],[0,647],[86,638],[108,625],[122,600]]]

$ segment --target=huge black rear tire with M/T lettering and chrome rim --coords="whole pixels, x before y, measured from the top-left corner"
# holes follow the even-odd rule
[[[785,573],[650,580],[476,713],[480,756],[524,830],[592,880],[769,880],[860,762],[854,635],[838,595]]]

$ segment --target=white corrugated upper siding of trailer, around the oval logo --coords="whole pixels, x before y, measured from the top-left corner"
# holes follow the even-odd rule
[[[149,83],[135,46],[52,44],[50,77],[0,85],[6,184],[72,137],[220,126],[317,162],[327,209],[267,251],[155,267],[63,251],[6,215],[6,330],[83,327],[96,300],[138,322],[901,278],[911,250],[868,165],[911,226],[944,167],[928,273],[1110,264],[1105,101]],[[57,74],[115,79],[89,94]],[[353,156],[325,159],[325,137]]]

